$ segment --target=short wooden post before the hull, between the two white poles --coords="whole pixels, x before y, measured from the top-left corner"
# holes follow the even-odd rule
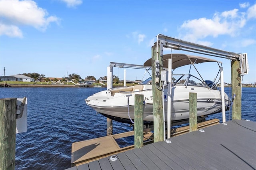
[[[197,130],[197,94],[189,93],[189,132]]]

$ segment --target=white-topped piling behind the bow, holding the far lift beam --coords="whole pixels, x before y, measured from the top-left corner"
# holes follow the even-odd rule
[[[113,86],[113,67],[107,67],[107,89],[111,89]],[[113,134],[113,121],[112,119],[107,118],[107,136]]]

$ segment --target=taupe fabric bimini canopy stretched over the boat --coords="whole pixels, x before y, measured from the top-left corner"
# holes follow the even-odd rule
[[[150,67],[152,65],[152,58],[148,59],[145,63],[145,67]],[[191,63],[198,64],[198,63],[205,63],[205,62],[218,62],[215,59],[205,58],[205,57],[198,57],[195,55],[186,55],[186,54],[165,54],[163,56],[163,67],[168,68],[168,59],[172,59],[172,69],[176,69],[178,67],[189,65]]]

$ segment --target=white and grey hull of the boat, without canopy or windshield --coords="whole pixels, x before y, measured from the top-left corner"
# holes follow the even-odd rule
[[[206,87],[178,86],[172,88],[171,117],[173,121],[189,118],[189,93],[197,93],[197,116],[205,116],[222,111],[220,91]],[[98,113],[116,121],[134,119],[134,95],[144,95],[144,121],[153,121],[152,89],[132,93],[116,93],[102,91],[86,99],[86,104]],[[129,96],[130,95],[130,96]],[[167,89],[164,90],[164,111],[167,120]],[[228,96],[225,94],[225,99]],[[226,100],[228,105],[228,100]],[[226,110],[229,108],[226,107]]]

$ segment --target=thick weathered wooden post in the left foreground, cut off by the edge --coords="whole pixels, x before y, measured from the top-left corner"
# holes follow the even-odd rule
[[[16,102],[0,99],[0,170],[15,169]]]

